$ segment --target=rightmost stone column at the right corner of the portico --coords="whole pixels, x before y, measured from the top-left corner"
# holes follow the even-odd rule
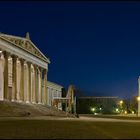
[[[44,104],[47,104],[47,70],[44,69]]]

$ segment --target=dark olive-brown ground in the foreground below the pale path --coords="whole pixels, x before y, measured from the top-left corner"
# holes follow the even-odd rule
[[[140,122],[0,120],[0,139],[137,139]]]

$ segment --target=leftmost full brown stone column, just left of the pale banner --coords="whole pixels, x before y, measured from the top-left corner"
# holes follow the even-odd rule
[[[8,56],[9,53],[3,52],[4,54],[4,99],[8,99],[8,93],[9,93],[9,88],[8,88]]]

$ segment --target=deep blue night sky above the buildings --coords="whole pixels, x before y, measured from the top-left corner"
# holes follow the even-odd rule
[[[140,2],[1,1],[0,32],[27,31],[51,60],[48,80],[103,96],[137,95]]]

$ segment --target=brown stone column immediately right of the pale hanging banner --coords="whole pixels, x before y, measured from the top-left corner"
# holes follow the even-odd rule
[[[12,56],[12,101],[17,100],[17,56]]]

